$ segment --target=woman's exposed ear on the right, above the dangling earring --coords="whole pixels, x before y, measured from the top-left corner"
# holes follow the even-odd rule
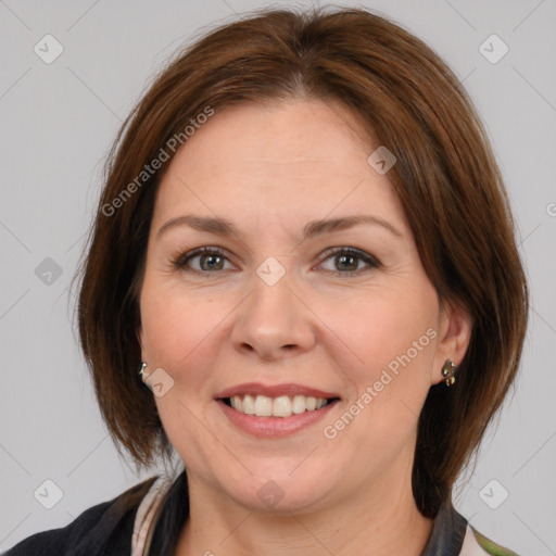
[[[472,327],[472,318],[462,303],[444,301],[441,304],[439,343],[431,374],[432,384],[444,380],[442,367],[446,359],[452,359],[456,367],[459,366],[469,346]]]

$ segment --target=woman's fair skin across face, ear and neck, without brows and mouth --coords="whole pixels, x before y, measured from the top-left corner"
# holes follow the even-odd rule
[[[463,359],[471,325],[462,307],[439,304],[388,174],[367,162],[377,147],[339,103],[235,106],[188,140],[160,184],[138,336],[147,372],[163,368],[174,380],[155,400],[188,472],[178,556],[410,556],[427,543],[432,521],[410,482],[418,415],[445,359]],[[185,214],[226,218],[238,235],[175,226],[157,237]],[[362,214],[401,237],[359,225],[301,240],[309,220]],[[173,265],[201,247],[225,256]],[[326,253],[346,247],[380,265]],[[286,271],[274,286],[256,274],[269,256]],[[435,338],[327,439],[324,427],[428,329]],[[214,401],[253,381],[301,383],[341,401],[293,435],[257,439]],[[274,507],[257,496],[269,480],[283,493]]]

